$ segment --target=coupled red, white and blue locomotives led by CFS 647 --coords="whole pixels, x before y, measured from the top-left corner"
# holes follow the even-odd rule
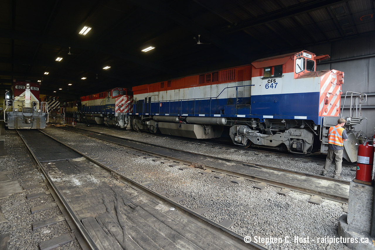
[[[168,81],[114,88],[81,97],[82,118],[90,123],[161,132],[189,138],[218,138],[225,132],[239,147],[276,148],[305,155],[328,150],[327,133],[336,125],[344,72],[316,71],[328,55],[308,51],[263,58],[251,64]],[[366,94],[350,94],[359,106]],[[354,97],[353,97],[354,96]],[[359,112],[361,114],[361,112]],[[357,160],[354,126],[358,112],[343,117],[349,139],[344,158]]]

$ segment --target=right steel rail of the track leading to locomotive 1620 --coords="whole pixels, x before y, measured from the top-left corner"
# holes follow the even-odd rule
[[[160,199],[162,200],[163,202],[166,202],[168,205],[171,205],[171,206],[174,206],[174,207],[178,207],[180,208],[180,211],[183,212],[183,214],[189,216],[190,218],[193,218],[195,220],[198,220],[199,222],[201,222],[203,225],[206,225],[206,226],[209,226],[211,229],[215,229],[217,232],[222,232],[224,231],[226,234],[226,237],[228,237],[229,239],[233,240],[234,242],[236,242],[239,246],[241,247],[245,247],[244,249],[257,249],[257,250],[268,250],[267,248],[263,247],[263,246],[260,246],[254,242],[250,242],[250,243],[245,243],[244,241],[244,237],[242,237],[241,235],[239,234],[236,234],[235,232],[229,230],[228,228],[225,228],[221,225],[219,225],[218,223],[212,221],[212,220],[209,220],[207,218],[205,218],[204,216],[194,212],[193,210],[190,210],[189,208],[187,207],[184,207],[183,205],[180,205],[178,204],[177,202],[174,202],[172,201],[171,199],[163,196],[163,195],[160,195],[159,193],[149,189],[148,187],[146,186],[143,186],[142,184],[140,183],[137,183],[136,181],[130,179],[130,178],[127,178],[125,175],[119,173],[118,171],[114,170],[114,169],[111,169],[109,168],[108,166],[100,163],[99,161],[93,159],[92,157],[90,156],[87,156],[86,154],[76,150],[75,148],[59,141],[58,139],[55,139],[53,138],[51,135],[48,135],[47,133],[39,130],[41,133],[43,133],[44,135],[48,136],[49,138],[51,139],[54,139],[55,141],[57,141],[58,143],[64,145],[65,147],[68,147],[69,149],[75,151],[76,153],[78,154],[81,154],[83,157],[85,157],[86,159],[89,159],[90,161],[94,162],[96,165],[99,165],[101,166],[102,168],[106,169],[107,171],[111,172],[111,174],[117,178],[118,180],[121,180],[123,181],[125,184],[128,184],[129,186],[135,188],[136,190],[138,191],[141,191],[141,192],[145,192],[147,193],[148,195],[151,195],[153,196],[154,198],[157,198],[157,199]],[[249,248],[250,247],[250,248]]]

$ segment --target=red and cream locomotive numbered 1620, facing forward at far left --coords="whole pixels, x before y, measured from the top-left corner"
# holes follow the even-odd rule
[[[47,115],[46,115],[47,114]],[[44,129],[48,103],[39,101],[39,84],[13,82],[4,100],[5,126],[9,129]]]

